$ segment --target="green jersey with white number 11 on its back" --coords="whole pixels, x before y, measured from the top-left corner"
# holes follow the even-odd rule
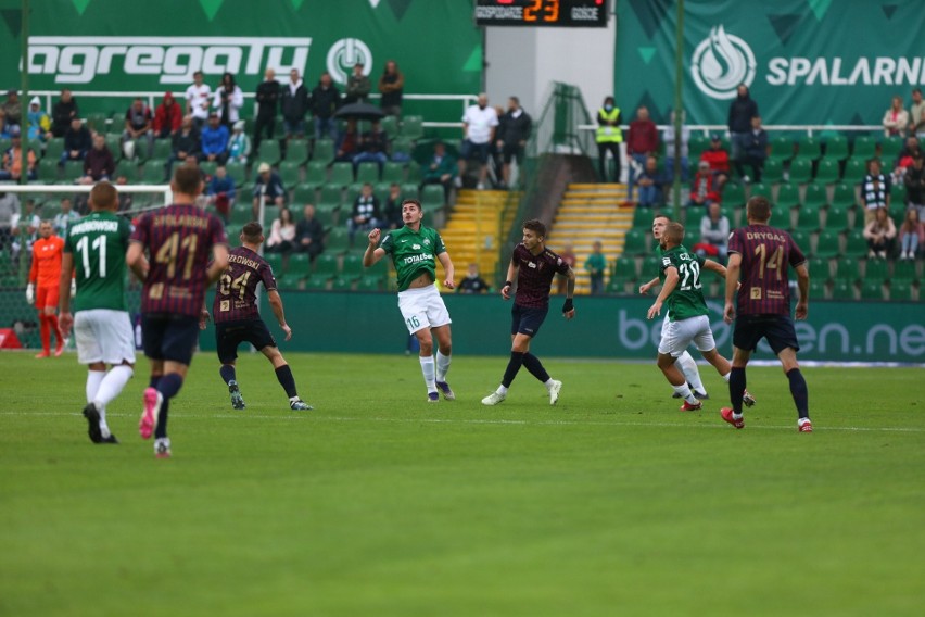
[[[67,229],[64,252],[72,253],[77,279],[74,308],[126,311],[125,252],[131,226],[112,212],[92,212]]]

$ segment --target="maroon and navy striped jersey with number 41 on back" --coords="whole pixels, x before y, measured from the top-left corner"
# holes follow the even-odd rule
[[[150,268],[141,291],[142,313],[199,316],[214,244],[227,244],[221,222],[192,204],[144,214],[131,240],[148,250]]]

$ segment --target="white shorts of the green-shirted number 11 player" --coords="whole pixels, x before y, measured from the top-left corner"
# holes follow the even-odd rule
[[[74,340],[80,364],[135,364],[135,330],[125,311],[79,311],[74,316]]]

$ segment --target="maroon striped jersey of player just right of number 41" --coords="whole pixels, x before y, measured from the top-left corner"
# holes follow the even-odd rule
[[[246,247],[238,247],[228,255],[228,269],[218,279],[212,315],[216,324],[259,319],[257,285],[267,291],[276,289],[270,265]]]

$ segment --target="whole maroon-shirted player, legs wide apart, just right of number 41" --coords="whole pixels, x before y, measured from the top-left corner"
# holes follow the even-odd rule
[[[273,364],[276,378],[289,396],[289,407],[293,411],[311,410],[312,405],[299,398],[292,370],[279,353],[276,340],[257,310],[257,285],[263,282],[270,308],[280,329],[286,333],[286,340],[292,338],[292,328],[286,323],[282,299],[276,289],[273,268],[257,253],[263,241],[264,229],[259,223],[244,225],[241,229],[241,245],[231,250],[228,255],[228,269],[218,279],[212,314],[215,318],[215,348],[218,351],[218,361],[221,362],[219,374],[231,393],[231,406],[236,410],[245,408],[235,374],[235,361],[238,357],[238,345],[243,342],[251,343]],[[203,307],[200,328],[205,329],[207,319],[208,312]]]

